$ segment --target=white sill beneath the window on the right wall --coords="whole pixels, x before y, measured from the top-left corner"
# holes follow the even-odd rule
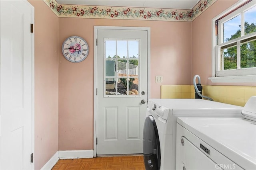
[[[256,75],[209,77],[213,83],[256,83]]]

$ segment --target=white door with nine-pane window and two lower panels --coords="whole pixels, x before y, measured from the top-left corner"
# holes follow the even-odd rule
[[[97,30],[97,154],[142,153],[147,31]]]

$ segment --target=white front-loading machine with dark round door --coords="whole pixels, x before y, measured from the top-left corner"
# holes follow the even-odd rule
[[[175,169],[177,117],[242,117],[242,109],[203,99],[149,99],[143,129],[146,170]]]

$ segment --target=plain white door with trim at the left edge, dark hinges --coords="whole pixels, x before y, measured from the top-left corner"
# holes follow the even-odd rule
[[[33,16],[27,1],[0,1],[1,169],[34,169]]]

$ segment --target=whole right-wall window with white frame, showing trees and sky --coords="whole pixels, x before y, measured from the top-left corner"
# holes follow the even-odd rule
[[[256,4],[240,1],[213,20],[214,77],[256,74]],[[238,76],[238,77],[237,77]],[[254,78],[253,78],[254,77]],[[234,80],[234,77],[232,78]],[[236,81],[235,81],[236,82]],[[244,80],[242,80],[244,82]]]

